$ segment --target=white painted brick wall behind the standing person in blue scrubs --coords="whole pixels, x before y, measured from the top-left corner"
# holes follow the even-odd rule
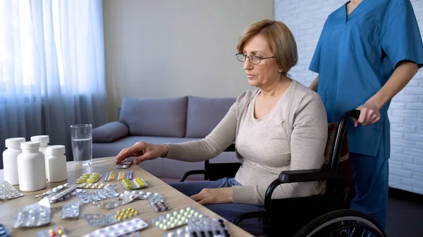
[[[316,77],[308,66],[326,17],[346,1],[275,0],[275,19],[293,31],[300,56],[290,74],[307,86]],[[412,0],[420,31],[423,30],[423,0]],[[423,194],[423,72],[391,103],[391,160],[389,185]]]

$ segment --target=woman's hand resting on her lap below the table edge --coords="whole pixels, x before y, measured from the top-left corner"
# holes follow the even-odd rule
[[[190,198],[201,205],[233,202],[232,188],[203,188]]]

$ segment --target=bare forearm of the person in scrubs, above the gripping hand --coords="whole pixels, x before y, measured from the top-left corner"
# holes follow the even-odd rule
[[[374,103],[379,109],[396,96],[414,77],[419,68],[415,63],[401,63],[389,77],[388,82],[368,102]]]

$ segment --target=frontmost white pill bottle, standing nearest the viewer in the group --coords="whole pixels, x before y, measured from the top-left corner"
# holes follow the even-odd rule
[[[39,151],[39,141],[20,143],[18,155],[19,189],[23,192],[38,191],[47,186],[44,155]]]

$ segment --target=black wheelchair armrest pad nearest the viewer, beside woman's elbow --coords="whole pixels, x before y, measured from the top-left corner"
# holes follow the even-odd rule
[[[286,170],[279,174],[281,184],[334,180],[339,178],[340,176],[336,172],[322,171],[321,169]]]

